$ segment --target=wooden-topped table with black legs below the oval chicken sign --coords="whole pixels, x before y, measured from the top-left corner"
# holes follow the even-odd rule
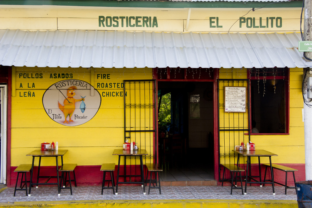
[[[59,174],[58,174],[58,160],[57,157],[61,156],[61,162],[63,165],[63,155],[67,152],[68,150],[54,150],[54,151],[48,151],[48,150],[35,150],[27,154],[26,156],[32,156],[32,172],[30,174],[30,184],[29,184],[29,192],[28,196],[31,196],[31,191],[32,191],[32,185],[36,185],[36,188],[38,188],[38,185],[45,185],[45,184],[57,184],[57,191],[58,191],[58,196],[61,195],[60,192],[60,180],[59,180]],[[38,174],[37,174],[37,183],[32,183],[32,173],[34,170],[34,162],[35,162],[35,157],[39,157],[39,166],[38,166]],[[40,163],[41,163],[41,157],[55,157],[56,159],[56,176],[39,176],[40,172]],[[39,178],[48,178],[48,180],[45,183],[39,183]],[[48,183],[50,178],[57,178],[57,183]]]

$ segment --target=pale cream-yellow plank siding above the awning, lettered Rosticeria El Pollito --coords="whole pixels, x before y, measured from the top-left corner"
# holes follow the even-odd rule
[[[21,30],[127,30],[127,31],[175,31],[175,32],[290,32],[300,31],[300,8],[262,8],[249,12],[244,18],[249,22],[237,21],[250,8],[192,8],[187,25],[188,8],[139,8],[94,9],[94,8],[0,8],[0,29]],[[272,16],[281,18],[276,23]],[[226,15],[225,15],[226,14]],[[142,17],[157,18],[157,27],[103,27],[99,26],[99,16],[104,17]],[[274,17],[274,18],[275,18]],[[261,21],[260,21],[261,18]],[[251,21],[252,20],[252,21]],[[236,22],[237,21],[237,22]],[[135,21],[134,21],[135,22]],[[248,25],[246,25],[248,23]],[[272,24],[272,25],[271,25]],[[261,28],[262,26],[262,28]],[[265,26],[265,27],[264,27]],[[303,25],[302,25],[303,27]]]

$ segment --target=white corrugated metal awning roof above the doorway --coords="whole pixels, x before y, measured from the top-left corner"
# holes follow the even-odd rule
[[[105,68],[308,67],[298,33],[0,30],[0,65]]]

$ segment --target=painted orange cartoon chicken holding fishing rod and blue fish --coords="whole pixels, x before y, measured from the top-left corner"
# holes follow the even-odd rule
[[[83,109],[81,109],[81,112],[85,111],[85,103],[84,103],[85,97],[80,96],[81,99],[75,99],[74,98],[74,96],[76,95],[75,89],[77,89],[76,86],[71,86],[71,87],[69,87],[67,89],[67,98],[60,91],[64,95],[64,97],[65,97],[64,105],[61,105],[60,103],[58,103],[59,104],[59,109],[61,109],[61,111],[64,113],[64,116],[65,116],[64,123],[68,123],[67,116],[69,116],[69,122],[73,122],[73,120],[71,120],[71,116],[72,116],[72,114],[74,113],[74,111],[76,109],[76,106],[75,106],[76,102],[82,101],[82,103],[80,105],[80,109],[81,109],[81,106],[83,104]]]

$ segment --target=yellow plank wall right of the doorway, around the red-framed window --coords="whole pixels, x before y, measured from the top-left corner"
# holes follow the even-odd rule
[[[278,155],[272,157],[273,163],[305,163],[305,138],[304,138],[304,122],[302,121],[302,68],[290,69],[290,128],[289,135],[251,135],[251,141],[256,144],[256,149],[265,149]],[[246,69],[221,69],[219,73],[220,79],[248,79]],[[220,91],[220,103],[222,103],[223,94]],[[220,110],[220,117],[223,118],[223,109]],[[247,122],[247,113],[244,113],[244,120]],[[237,115],[236,115],[237,116]],[[241,117],[240,117],[241,118]],[[237,120],[238,121],[238,120]],[[237,122],[236,121],[236,122]],[[221,134],[221,133],[220,133]],[[234,134],[234,133],[232,133]],[[238,137],[238,133],[236,138]],[[220,145],[228,145],[222,142],[220,136]],[[248,141],[248,135],[245,136]],[[246,142],[245,142],[246,143]],[[238,145],[238,144],[236,144]],[[232,145],[233,146],[233,145]],[[234,149],[233,147],[230,147]],[[231,149],[231,152],[232,152]],[[257,163],[257,158],[251,158],[252,163]],[[262,161],[263,160],[263,161]],[[220,162],[224,162],[224,158],[220,158]],[[235,161],[236,162],[236,161]],[[261,163],[269,162],[269,159],[261,159]]]

